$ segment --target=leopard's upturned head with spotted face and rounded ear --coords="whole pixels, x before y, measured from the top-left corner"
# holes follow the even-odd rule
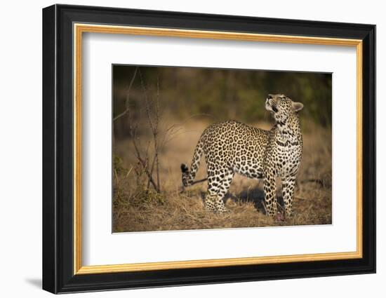
[[[285,123],[290,116],[295,115],[302,108],[301,102],[293,102],[283,94],[269,94],[265,100],[265,109],[272,113],[277,123]]]

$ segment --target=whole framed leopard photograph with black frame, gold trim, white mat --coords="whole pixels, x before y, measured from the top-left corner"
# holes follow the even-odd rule
[[[375,273],[375,25],[54,5],[43,81],[44,290]]]

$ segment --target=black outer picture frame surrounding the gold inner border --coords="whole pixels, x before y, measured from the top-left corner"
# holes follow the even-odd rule
[[[74,275],[73,23],[361,39],[363,257]],[[375,25],[123,8],[43,9],[43,289],[53,293],[375,273]],[[354,148],[353,148],[354,150]]]

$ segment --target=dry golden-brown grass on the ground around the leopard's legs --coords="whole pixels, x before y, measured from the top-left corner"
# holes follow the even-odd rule
[[[262,181],[259,180],[234,177],[225,198],[225,205],[230,210],[227,215],[204,210],[206,182],[180,194],[180,164],[190,163],[197,140],[208,124],[202,120],[183,123],[173,140],[160,152],[161,194],[147,191],[143,185],[146,177],[135,174],[138,165],[131,141],[116,141],[114,152],[121,158],[121,163],[114,171],[114,232],[331,224],[331,131],[307,125],[309,133],[303,133],[304,152],[293,203],[295,216],[280,221],[265,216]],[[267,123],[256,126],[269,128]],[[149,137],[142,132],[144,150]],[[206,165],[201,160],[196,179],[204,177]],[[282,204],[278,185],[279,203]]]

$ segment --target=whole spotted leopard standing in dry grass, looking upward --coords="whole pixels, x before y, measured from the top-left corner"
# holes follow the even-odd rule
[[[278,216],[277,178],[281,179],[284,219],[293,217],[295,182],[302,158],[302,130],[299,111],[301,102],[283,94],[269,94],[265,109],[272,114],[270,130],[227,120],[208,126],[199,137],[190,168],[180,165],[182,185],[194,184],[201,161],[205,156],[207,191],[204,208],[208,212],[229,212],[223,198],[235,174],[263,180],[265,214]]]

